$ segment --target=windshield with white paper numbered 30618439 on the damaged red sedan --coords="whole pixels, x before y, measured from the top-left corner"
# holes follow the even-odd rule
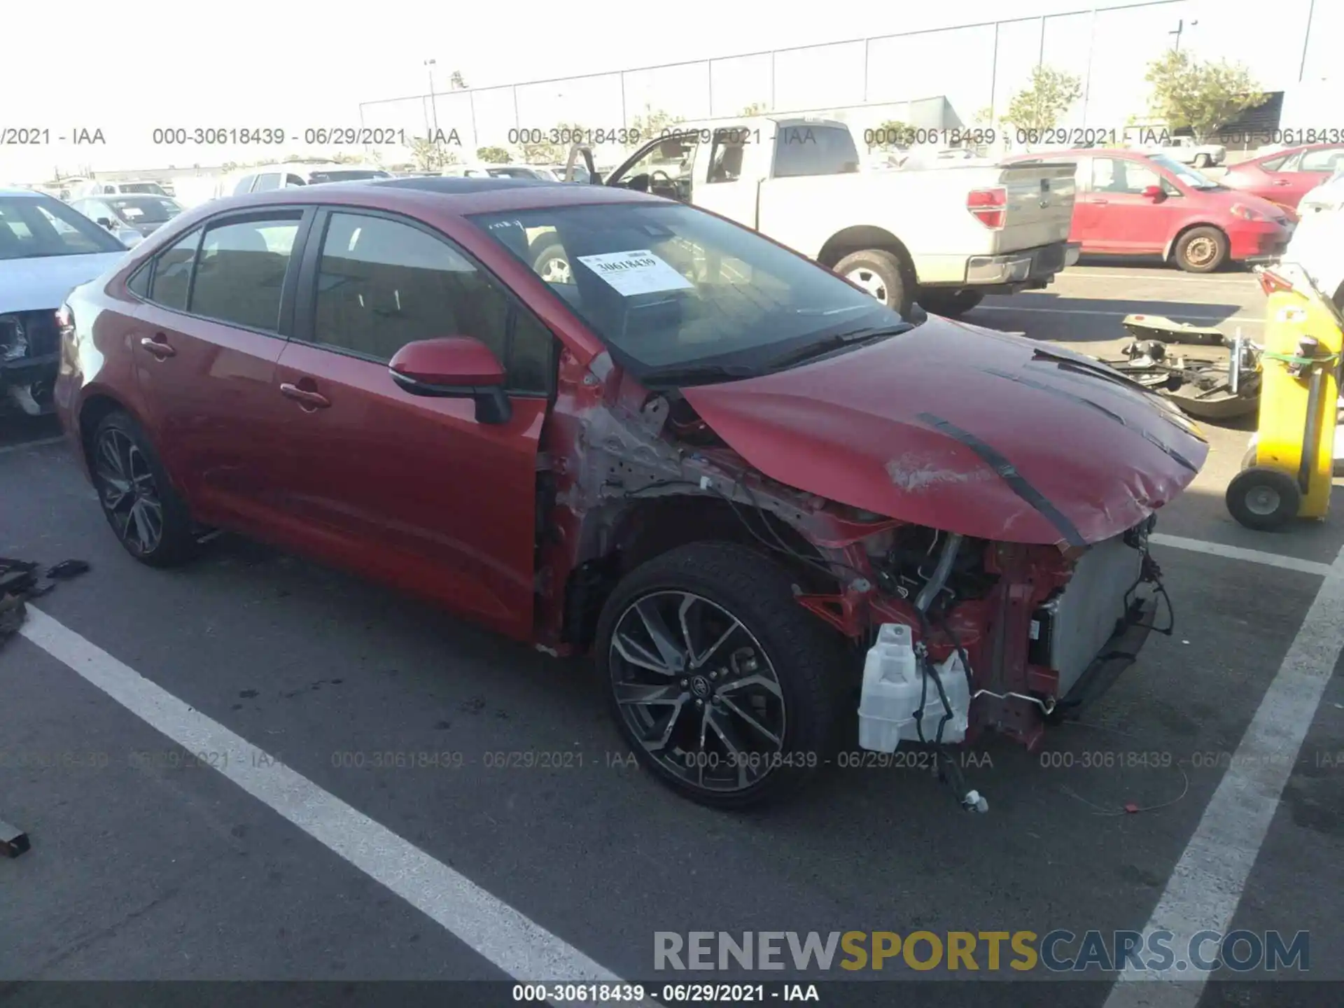
[[[531,266],[637,378],[762,374],[839,336],[909,328],[870,294],[754,231],[676,203],[470,218]],[[551,234],[543,239],[542,235]],[[536,251],[536,250],[540,251]],[[687,376],[679,384],[700,380]]]

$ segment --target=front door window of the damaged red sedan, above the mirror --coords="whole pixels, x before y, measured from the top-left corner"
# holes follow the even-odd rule
[[[508,366],[509,313],[504,293],[446,241],[387,218],[332,214],[314,341],[386,362],[407,343],[472,336]]]

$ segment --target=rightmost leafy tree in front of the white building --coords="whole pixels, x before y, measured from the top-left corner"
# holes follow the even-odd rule
[[[1199,60],[1181,50],[1149,63],[1144,79],[1153,87],[1149,110],[1168,129],[1189,129],[1202,141],[1269,98],[1241,63]]]

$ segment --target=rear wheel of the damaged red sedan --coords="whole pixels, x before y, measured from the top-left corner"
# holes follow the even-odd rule
[[[120,456],[121,474],[114,456]],[[109,413],[98,423],[89,468],[103,517],[126,552],[151,567],[175,567],[195,556],[199,530],[187,503],[173,488],[149,438],[128,414]]]

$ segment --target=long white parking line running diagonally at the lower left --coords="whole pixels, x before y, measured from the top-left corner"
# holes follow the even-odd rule
[[[188,753],[224,754],[220,762],[211,761],[219,773],[516,980],[621,982],[614,973],[464,875],[265,755],[247,739],[34,606],[28,606],[28,620],[19,633]]]

